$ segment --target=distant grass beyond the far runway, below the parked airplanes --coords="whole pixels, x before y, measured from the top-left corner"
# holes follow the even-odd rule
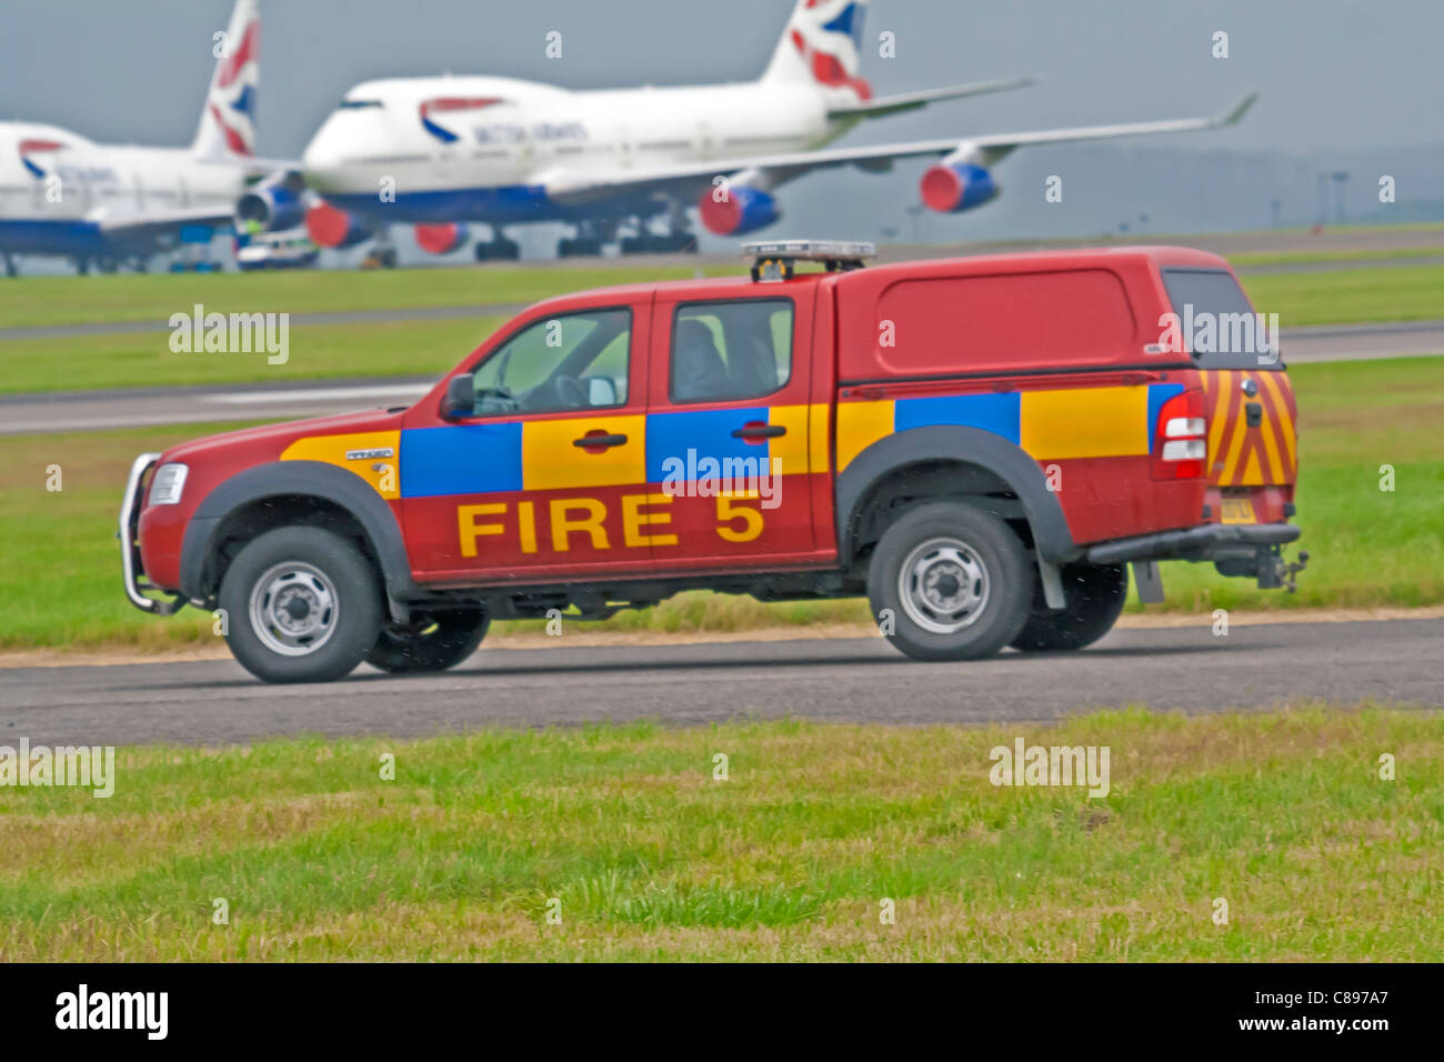
[[[4,327],[91,321],[166,322],[202,302],[206,312],[292,314],[531,302],[598,285],[692,276],[695,266],[638,269],[425,269],[375,273],[270,273],[221,276],[22,277],[0,285]],[[735,275],[725,266],[712,275]],[[1444,315],[1444,266],[1396,266],[1330,273],[1245,276],[1261,312],[1284,328],[1354,321],[1408,321]],[[92,387],[248,383],[267,380],[442,373],[504,324],[504,318],[290,329],[290,360],[263,354],[175,354],[169,332],[101,334],[0,341],[0,393]]]

